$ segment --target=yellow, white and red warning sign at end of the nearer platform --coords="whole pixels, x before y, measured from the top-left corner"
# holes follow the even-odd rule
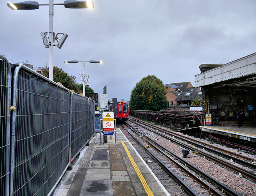
[[[114,112],[102,113],[103,135],[114,135]]]

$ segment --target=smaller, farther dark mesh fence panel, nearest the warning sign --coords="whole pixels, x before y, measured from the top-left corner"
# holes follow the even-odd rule
[[[95,128],[91,125],[91,122],[94,123],[94,116],[91,116],[92,111],[90,111],[94,112],[94,101],[76,93],[72,93],[71,100],[71,160],[73,160],[94,135]]]

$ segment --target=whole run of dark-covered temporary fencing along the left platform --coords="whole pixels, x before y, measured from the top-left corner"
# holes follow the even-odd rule
[[[5,81],[10,76],[3,77],[2,72]],[[1,144],[5,152],[10,146],[10,154],[1,157],[6,160],[1,168],[1,195],[50,195],[71,157],[74,159],[95,133],[94,101],[24,65],[14,70],[11,103],[5,100],[10,88],[5,83],[1,83],[1,107],[6,102],[5,108],[12,106],[13,110],[8,116],[1,108],[2,138],[10,135],[10,142]]]

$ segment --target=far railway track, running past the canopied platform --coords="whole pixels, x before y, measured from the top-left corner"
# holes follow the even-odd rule
[[[223,167],[226,167],[226,168],[228,168],[228,169],[230,169],[234,172],[237,172],[238,174],[241,174],[241,175],[243,175],[247,178],[250,178],[254,182],[256,181],[256,174],[254,172],[250,172],[247,169],[244,169],[244,168],[241,167],[241,165],[243,165],[245,167],[249,167],[249,168],[253,169],[254,171],[256,171],[256,165],[253,164],[253,163],[255,163],[255,160],[253,160],[253,162],[250,163],[248,161],[242,160],[242,159],[245,159],[244,156],[234,157],[234,156],[228,155],[228,151],[225,151],[224,149],[220,149],[220,150],[224,151],[224,153],[222,153],[222,152],[214,150],[210,147],[206,147],[204,145],[198,144],[198,143],[195,142],[195,140],[191,141],[191,138],[187,137],[185,139],[184,137],[186,137],[186,136],[184,136],[184,135],[182,135],[182,136],[180,136],[178,134],[175,135],[174,133],[170,133],[170,131],[167,132],[166,130],[163,130],[163,129],[161,130],[160,129],[160,131],[163,133],[162,134],[162,133],[159,133],[159,131],[158,131],[159,127],[148,125],[148,124],[147,125],[142,125],[141,123],[144,123],[144,122],[139,122],[138,123],[138,120],[136,120],[136,121],[132,120],[132,122],[137,123],[138,125],[140,125],[144,129],[148,129],[149,131],[152,131],[153,133],[160,135],[160,137],[168,139],[169,141],[171,141],[173,143],[176,143],[177,145],[181,145],[182,147],[184,147],[186,149],[189,149],[190,151],[192,151],[194,153],[197,153],[198,155],[201,155],[202,157],[210,159],[211,161],[214,161],[215,163],[217,163],[219,165],[222,165]],[[154,128],[154,129],[152,129],[152,128]],[[177,141],[173,137],[175,137],[176,139],[181,139],[182,141],[185,141],[185,143]],[[191,146],[191,144],[193,146]],[[201,148],[203,150],[209,151],[210,153],[205,153],[204,151],[199,150],[198,148],[195,148],[194,146],[196,146],[198,148]],[[220,159],[216,156],[213,156],[212,153],[214,153],[215,155],[224,157],[226,160],[236,161],[237,163],[239,163],[241,165],[232,164],[228,161],[225,161],[224,159]],[[249,159],[249,160],[252,161],[252,159]]]

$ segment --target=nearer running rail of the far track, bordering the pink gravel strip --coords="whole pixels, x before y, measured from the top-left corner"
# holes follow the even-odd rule
[[[144,127],[145,129],[148,129],[148,127],[146,127],[146,126],[143,126],[143,125],[141,125],[141,126]],[[204,152],[202,152],[202,151],[200,151],[200,150],[198,150],[198,149],[194,149],[193,147],[190,147],[190,146],[188,146],[188,145],[186,145],[186,144],[184,144],[184,143],[180,143],[180,142],[178,142],[178,141],[176,141],[176,140],[174,140],[174,139],[172,139],[172,138],[170,138],[170,137],[168,137],[168,136],[166,136],[166,135],[164,135],[164,134],[158,133],[158,132],[156,132],[156,131],[154,131],[154,130],[152,130],[152,129],[148,129],[148,130],[150,130],[150,131],[152,131],[152,132],[154,132],[154,133],[157,133],[157,134],[160,135],[161,137],[164,137],[164,138],[166,138],[166,139],[172,141],[173,143],[176,143],[176,144],[178,144],[178,145],[181,145],[181,146],[185,147],[186,149],[190,149],[191,151],[194,151],[195,153],[200,154],[200,155],[202,155],[202,156],[204,156],[204,157],[206,157],[206,158],[208,158],[208,159],[210,159],[210,160],[212,160],[212,161],[218,163],[219,165],[222,165],[223,167],[226,167],[226,168],[228,168],[228,169],[231,169],[232,171],[235,171],[235,172],[237,172],[237,173],[240,173],[240,174],[242,174],[243,176],[245,176],[245,177],[247,177],[247,178],[250,178],[251,180],[256,181],[256,175],[255,175],[254,173],[252,173],[252,172],[248,172],[248,171],[246,171],[245,169],[242,169],[242,168],[240,168],[240,167],[238,167],[238,166],[236,166],[236,165],[232,165],[232,164],[230,164],[230,163],[228,163],[228,162],[226,162],[226,161],[224,161],[224,160],[221,160],[221,159],[219,159],[219,158],[217,158],[217,157],[212,157],[211,155],[208,155],[208,154],[206,154],[206,153],[204,153]],[[233,158],[233,157],[231,157],[231,158]],[[247,163],[247,162],[246,162],[246,163]]]

